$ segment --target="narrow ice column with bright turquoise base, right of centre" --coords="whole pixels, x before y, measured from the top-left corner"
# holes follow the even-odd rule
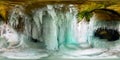
[[[75,37],[73,36],[73,28],[72,28],[72,22],[73,22],[73,15],[70,12],[66,13],[66,32],[65,32],[65,43],[67,46],[71,45],[77,45],[77,42],[75,40]],[[69,46],[69,47],[70,47]],[[72,46],[71,46],[72,47]],[[75,46],[74,46],[75,47]]]

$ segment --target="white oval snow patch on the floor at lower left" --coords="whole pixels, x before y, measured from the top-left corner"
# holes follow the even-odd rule
[[[9,59],[41,59],[48,54],[40,49],[26,49],[24,51],[4,52],[2,56]]]

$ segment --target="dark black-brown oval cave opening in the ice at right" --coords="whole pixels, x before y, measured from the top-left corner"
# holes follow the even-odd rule
[[[107,39],[107,41],[116,41],[119,40],[119,32],[118,30],[114,29],[107,29],[107,28],[98,28],[94,32],[94,36],[98,37],[99,39]]]

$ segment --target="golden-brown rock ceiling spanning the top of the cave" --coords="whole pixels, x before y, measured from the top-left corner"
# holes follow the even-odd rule
[[[108,8],[120,12],[119,0],[0,0],[0,15],[6,20],[8,11],[15,5],[24,6],[25,12],[30,13],[31,10],[46,4],[74,4],[80,12],[96,8]]]

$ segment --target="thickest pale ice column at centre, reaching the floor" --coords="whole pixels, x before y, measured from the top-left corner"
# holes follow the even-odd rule
[[[44,11],[46,14],[43,16],[43,39],[48,50],[57,50],[57,26],[55,22],[54,10]],[[53,14],[52,14],[53,13]]]

